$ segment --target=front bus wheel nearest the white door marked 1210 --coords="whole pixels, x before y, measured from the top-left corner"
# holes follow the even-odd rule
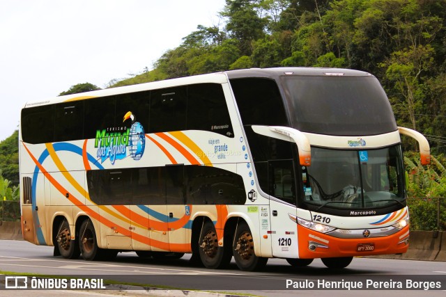
[[[254,253],[254,239],[245,222],[238,224],[233,243],[233,255],[241,271],[259,271],[268,262],[268,258],[257,257]]]

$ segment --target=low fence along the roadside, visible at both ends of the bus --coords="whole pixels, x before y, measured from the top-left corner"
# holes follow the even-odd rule
[[[446,198],[408,198],[410,230],[446,231]],[[20,202],[0,200],[0,222],[20,221]]]

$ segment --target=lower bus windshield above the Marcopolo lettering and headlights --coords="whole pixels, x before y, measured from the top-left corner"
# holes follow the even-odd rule
[[[400,145],[378,150],[312,147],[304,167],[304,203],[314,211],[384,209],[406,205]]]

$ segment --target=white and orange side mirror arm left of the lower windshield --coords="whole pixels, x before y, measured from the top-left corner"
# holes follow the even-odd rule
[[[301,131],[281,126],[252,125],[251,127],[256,134],[295,143],[298,145],[300,166],[310,166],[312,164],[312,148],[309,145],[307,136]]]

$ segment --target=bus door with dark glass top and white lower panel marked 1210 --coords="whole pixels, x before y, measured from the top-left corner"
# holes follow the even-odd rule
[[[268,161],[272,255],[298,257],[296,215],[296,179],[292,160]]]

